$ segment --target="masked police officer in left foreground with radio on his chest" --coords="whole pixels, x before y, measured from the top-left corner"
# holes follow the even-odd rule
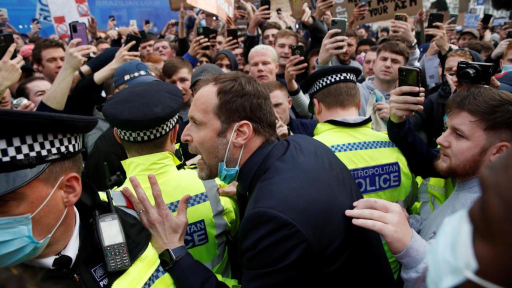
[[[0,121],[16,124],[5,125],[0,136],[3,277],[23,275],[27,286],[65,287],[158,287],[155,275],[170,279],[160,272],[151,234],[120,209],[115,212],[132,265],[117,272],[106,270],[91,220],[95,211],[111,210],[80,179],[83,134],[96,126],[96,118],[2,110]]]

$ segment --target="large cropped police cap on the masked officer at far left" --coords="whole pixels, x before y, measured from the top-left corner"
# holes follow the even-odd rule
[[[78,155],[94,117],[0,109],[0,195],[44,172],[50,163]]]

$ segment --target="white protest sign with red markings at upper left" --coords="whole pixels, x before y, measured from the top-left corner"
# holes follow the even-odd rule
[[[59,38],[69,38],[68,24],[73,21],[87,23],[90,15],[87,0],[48,0],[53,27]]]

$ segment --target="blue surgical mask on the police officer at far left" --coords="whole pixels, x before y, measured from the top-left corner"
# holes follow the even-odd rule
[[[62,178],[59,179],[50,195],[48,195],[46,200],[42,202],[32,215],[25,214],[0,218],[0,231],[2,231],[2,233],[0,233],[0,267],[14,266],[23,263],[37,257],[45,250],[53,233],[59,227],[62,219],[64,219],[68,208],[66,208],[64,214],[60,217],[53,231],[39,241],[34,238],[32,233],[32,217],[50,200],[50,197],[52,197],[61,180]]]

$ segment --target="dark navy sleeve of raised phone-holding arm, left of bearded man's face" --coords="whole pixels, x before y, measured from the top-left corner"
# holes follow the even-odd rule
[[[409,169],[414,175],[422,178],[445,178],[434,167],[439,149],[430,149],[414,132],[409,119],[400,123],[389,120],[388,136],[406,157]]]

